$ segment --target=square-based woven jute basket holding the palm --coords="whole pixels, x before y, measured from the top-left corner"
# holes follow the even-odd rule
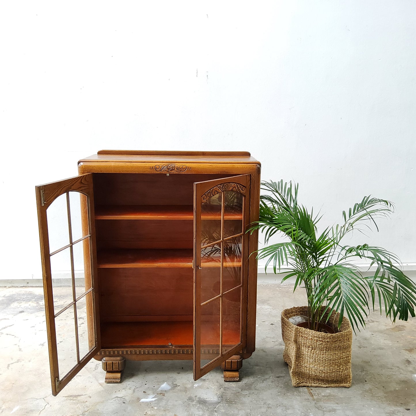
[[[331,312],[324,315],[324,319]],[[335,334],[324,334],[297,327],[289,318],[308,315],[308,307],[293,307],[282,312],[283,359],[289,365],[294,387],[350,387],[352,328],[347,318],[337,324],[339,313],[332,312],[327,324]],[[324,321],[325,322],[325,321]]]

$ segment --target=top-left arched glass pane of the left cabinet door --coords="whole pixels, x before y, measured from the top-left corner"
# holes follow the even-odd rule
[[[59,195],[46,210],[49,252],[69,244],[67,194]]]

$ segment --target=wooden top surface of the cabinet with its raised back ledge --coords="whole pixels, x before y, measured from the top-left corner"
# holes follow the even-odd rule
[[[256,163],[249,152],[100,150],[79,162],[196,162]]]

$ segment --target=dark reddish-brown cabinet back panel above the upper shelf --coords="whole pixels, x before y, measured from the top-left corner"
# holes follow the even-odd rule
[[[233,175],[94,173],[95,205],[192,205],[193,183]]]

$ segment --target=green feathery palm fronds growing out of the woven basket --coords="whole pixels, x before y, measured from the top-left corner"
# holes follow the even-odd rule
[[[260,197],[259,220],[249,231],[260,230],[267,245],[275,235],[289,241],[267,245],[258,250],[257,258],[266,259],[265,270],[272,263],[273,272],[285,269],[282,281],[296,276],[295,289],[304,287],[307,293],[310,319],[314,329],[327,310],[347,315],[354,332],[365,327],[369,313],[370,296],[374,310],[376,295],[380,310],[384,305],[386,316],[393,321],[415,316],[416,285],[397,267],[399,258],[380,247],[368,244],[342,245],[342,239],[354,230],[364,231],[375,226],[377,220],[387,218],[394,206],[385,199],[365,196],[347,211],[342,212],[344,222],[317,233],[321,219],[298,202],[297,184],[292,182],[262,182],[266,191]],[[371,277],[363,277],[352,260],[364,259],[375,265]],[[329,319],[329,318],[328,318]]]

